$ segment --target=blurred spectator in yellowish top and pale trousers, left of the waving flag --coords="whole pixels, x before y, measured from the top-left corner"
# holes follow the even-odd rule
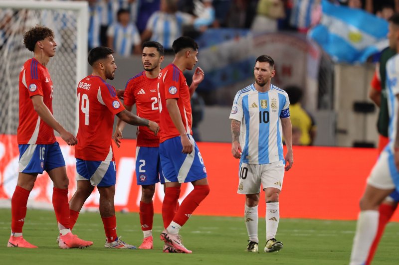
[[[285,11],[282,0],[259,0],[251,30],[255,32],[276,32],[278,29],[277,19],[284,17]]]

